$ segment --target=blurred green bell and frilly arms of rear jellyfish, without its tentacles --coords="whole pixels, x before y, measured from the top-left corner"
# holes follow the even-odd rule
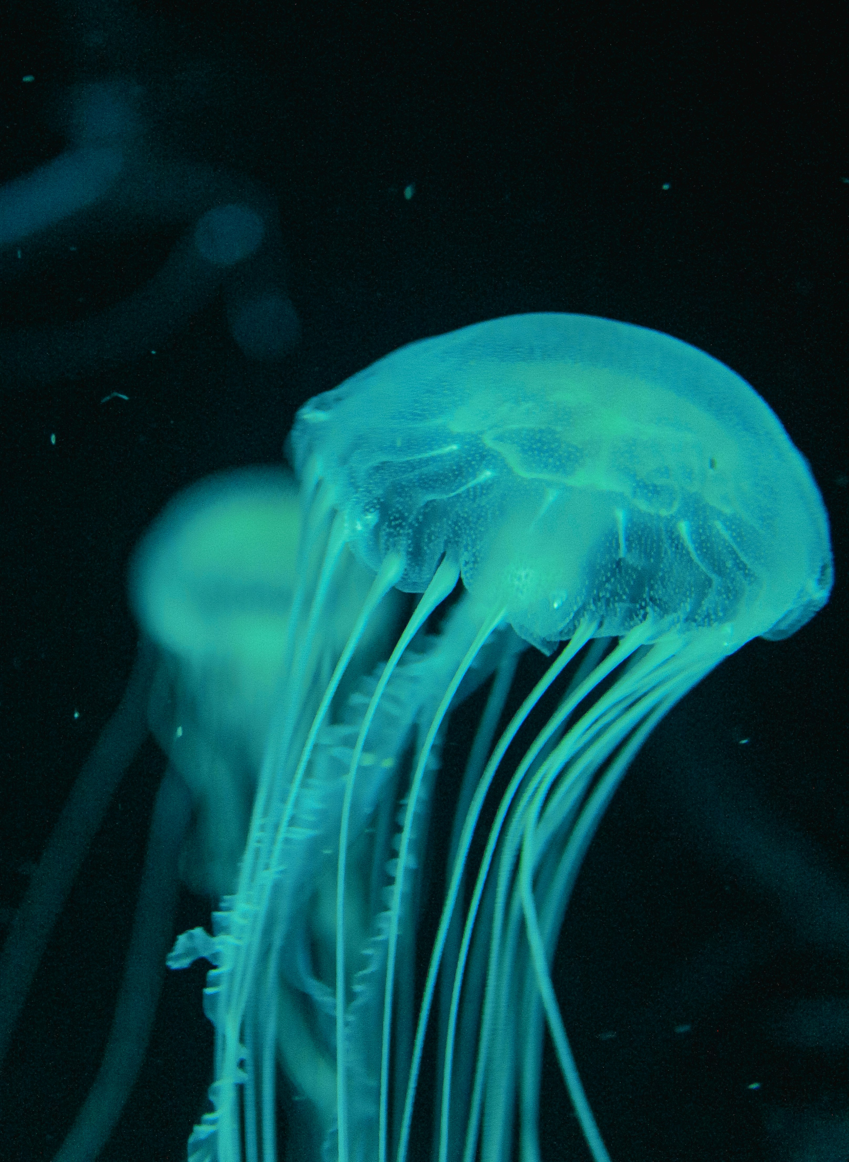
[[[290,500],[281,472],[204,480],[166,507],[130,568],[134,611],[159,646],[150,726],[196,803],[181,876],[213,897],[231,889],[253,794],[252,739],[267,729],[274,601],[285,609],[292,583]]]

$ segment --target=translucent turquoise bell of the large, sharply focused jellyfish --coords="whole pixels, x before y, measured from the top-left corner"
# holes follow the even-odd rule
[[[364,413],[381,423],[362,431]],[[532,641],[568,637],[590,604],[610,632],[631,627],[642,579],[655,615],[719,624],[742,594],[738,573],[756,569],[757,600],[738,610],[750,611],[750,636],[785,604],[813,616],[830,586],[815,574],[823,559],[830,568],[822,503],[778,418],[729,368],[645,328],[518,315],[413,343],[307,404],[292,440],[296,466],[316,450],[373,568],[401,548],[400,587],[420,590],[456,545],[475,594],[490,560]],[[780,540],[769,536],[778,519]],[[538,530],[516,554],[487,553],[488,538],[532,543]],[[526,610],[541,600],[551,616],[540,607],[534,629]]]

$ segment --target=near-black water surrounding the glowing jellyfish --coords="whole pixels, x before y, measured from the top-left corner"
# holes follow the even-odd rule
[[[846,27],[638,3],[103,12],[111,67],[145,86],[161,139],[279,200],[303,337],[276,367],[250,364],[215,301],[156,356],[0,385],[0,904],[121,696],[128,554],[167,497],[279,460],[301,403],[412,339],[530,310],[668,331],[748,379],[808,458],[836,584],[646,747],[582,873],[557,988],[616,1162],[846,1162],[849,945],[823,948],[782,898],[803,866],[823,885],[810,910],[839,926],[849,909]],[[79,79],[74,29],[48,2],[0,10],[2,181],[63,148],[49,113]],[[129,230],[42,256],[0,285],[0,325],[120,301],[173,242]],[[455,765],[469,730],[458,718]],[[2,1159],[49,1159],[94,1076],[161,768],[151,743],[50,945],[0,1078]],[[187,898],[180,924],[207,914]],[[105,1160],[185,1157],[209,1082],[202,977],[168,977]],[[803,1000],[833,1006],[833,1043],[789,1046]],[[556,1073],[542,1127],[546,1157],[587,1157]]]

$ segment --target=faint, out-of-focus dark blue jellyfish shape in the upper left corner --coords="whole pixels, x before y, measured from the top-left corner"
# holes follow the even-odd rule
[[[152,132],[152,105],[135,77],[80,81],[59,119],[69,149],[0,186],[8,279],[31,279],[39,252],[60,245],[75,251],[139,229],[184,230],[157,273],[123,301],[59,325],[0,333],[8,382],[78,379],[145,354],[220,289],[230,333],[249,359],[273,363],[296,344],[274,198],[245,174],[165,150]]]

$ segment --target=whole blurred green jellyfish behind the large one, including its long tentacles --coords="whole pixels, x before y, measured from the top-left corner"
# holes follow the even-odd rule
[[[180,494],[139,547],[132,591],[146,633],[121,706],[84,766],[12,924],[0,962],[0,1056],[73,878],[148,729],[170,758],[148,842],[124,981],[89,1095],[62,1149],[94,1159],[144,1057],[173,940],[178,881],[218,899],[235,890],[280,698],[300,511],[289,473],[221,473]],[[326,680],[359,616],[370,573],[347,558],[311,664]],[[358,668],[388,653],[401,598],[362,633]],[[157,647],[152,645],[156,639]]]

